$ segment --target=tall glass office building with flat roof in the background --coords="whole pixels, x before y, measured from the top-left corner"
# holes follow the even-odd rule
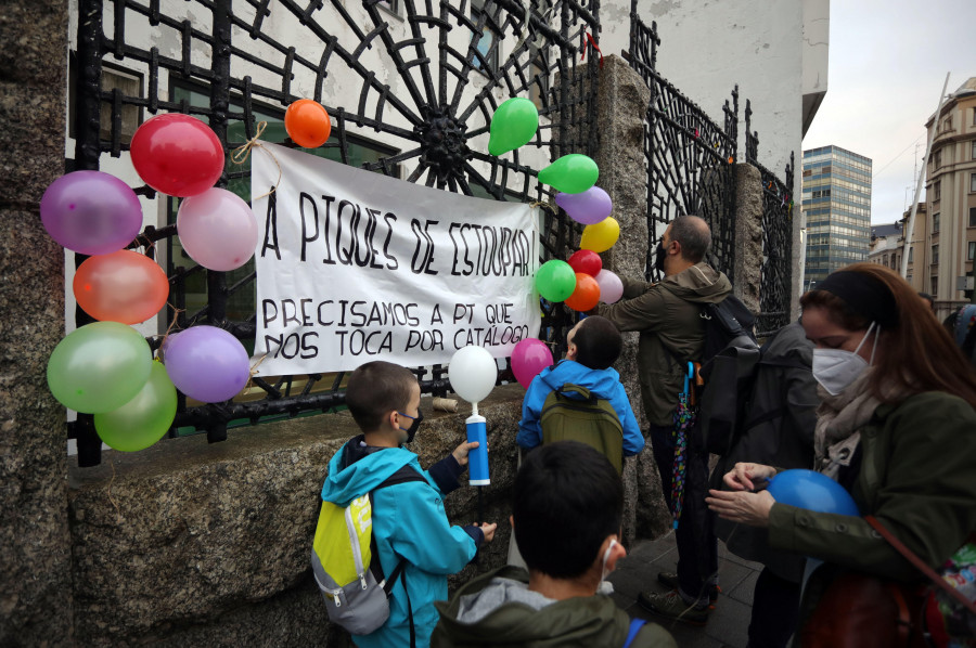
[[[804,151],[804,215],[809,290],[831,272],[868,260],[871,160],[839,146]]]

